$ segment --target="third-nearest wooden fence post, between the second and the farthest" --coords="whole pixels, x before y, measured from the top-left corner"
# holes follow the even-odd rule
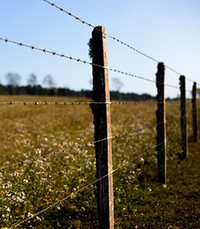
[[[185,93],[185,76],[180,76],[181,91],[181,135],[182,135],[182,151],[183,158],[188,156],[188,140],[187,140],[187,117],[186,117],[186,93]]]

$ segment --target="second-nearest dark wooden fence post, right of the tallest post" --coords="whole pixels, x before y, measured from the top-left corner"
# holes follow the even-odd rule
[[[157,101],[157,164],[158,182],[166,183],[166,120],[165,120],[165,65],[158,63],[156,73]]]

